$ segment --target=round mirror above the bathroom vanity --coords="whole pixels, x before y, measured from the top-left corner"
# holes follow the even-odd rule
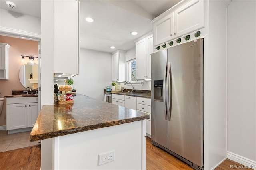
[[[38,65],[25,64],[20,68],[20,83],[27,89],[38,88]]]

